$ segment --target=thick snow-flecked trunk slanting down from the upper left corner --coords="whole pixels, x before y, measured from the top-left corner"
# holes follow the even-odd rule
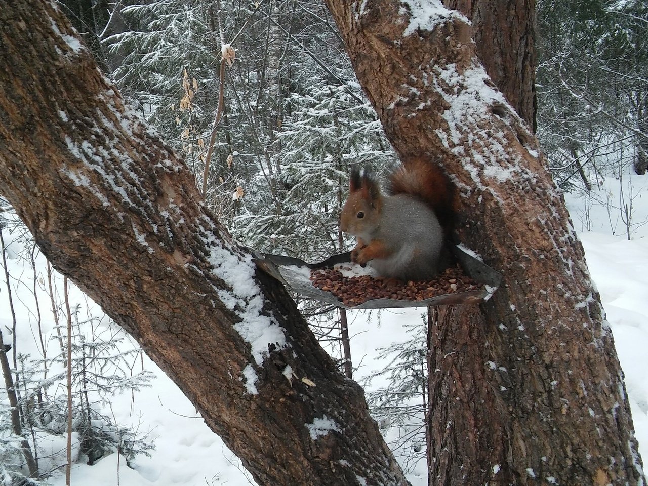
[[[0,9],[0,192],[259,485],[406,485],[362,389],[53,2]]]

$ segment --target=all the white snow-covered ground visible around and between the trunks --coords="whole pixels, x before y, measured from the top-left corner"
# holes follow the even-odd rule
[[[631,187],[629,187],[631,183]],[[614,206],[619,206],[619,187],[624,186],[627,203],[632,202],[631,240],[626,238],[626,226],[621,213]],[[629,195],[632,195],[629,198]],[[614,332],[616,349],[625,372],[625,383],[629,393],[636,435],[640,450],[647,451],[648,446],[648,177],[627,177],[619,183],[610,178],[605,185],[595,192],[595,198],[566,196],[576,231],[579,233],[590,272],[594,277],[603,299],[607,318]],[[612,234],[614,231],[615,234]],[[6,235],[5,235],[6,237]],[[19,248],[14,244],[14,249]],[[29,278],[29,266],[25,260],[12,258],[8,260],[9,270],[13,277]],[[43,308],[43,328],[53,333],[52,319],[48,315],[45,266],[38,259],[40,281],[38,290]],[[59,283],[60,284],[60,283]],[[29,284],[30,285],[30,284]],[[17,349],[22,353],[38,354],[38,340],[35,338],[33,297],[28,286],[17,284],[19,299],[14,298],[17,318]],[[0,290],[0,326],[9,342],[5,326],[11,325],[6,301],[6,289]],[[72,293],[73,301],[84,303],[78,292]],[[91,308],[98,315],[100,310]],[[375,330],[378,316],[376,312],[351,312],[351,345],[354,364],[359,364],[356,378],[362,381],[363,376],[380,369],[384,360],[378,359],[380,347],[388,347],[393,342],[405,341],[408,336],[402,332],[404,323],[420,321],[421,310],[384,311],[380,313],[381,332]],[[129,341],[133,347],[135,343]],[[55,349],[56,343],[50,343]],[[139,364],[141,367],[141,364]],[[155,364],[145,358],[145,369],[153,371],[156,378],[152,387],[143,389],[134,395],[118,395],[111,399],[111,413],[117,422],[132,424],[141,431],[148,432],[154,440],[156,449],[152,457],[138,457],[135,469],[126,467],[125,461],[118,454],[106,456],[94,466],[84,463],[76,464],[72,472],[72,484],[93,486],[112,486],[117,484],[138,486],[172,486],[172,485],[245,485],[253,484],[249,474],[242,468],[240,461],[224,446],[198,416],[179,389],[165,376]],[[373,382],[378,386],[380,380]],[[6,400],[4,394],[0,400]],[[54,446],[54,448],[56,448]],[[424,465],[411,465],[408,479],[413,486],[426,485]],[[65,484],[62,474],[53,476],[52,485]]]

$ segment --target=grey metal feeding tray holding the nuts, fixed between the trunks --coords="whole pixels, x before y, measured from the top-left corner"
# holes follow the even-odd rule
[[[353,306],[345,305],[335,295],[317,288],[310,281],[310,270],[331,268],[336,264],[351,263],[351,251],[333,255],[322,262],[316,263],[307,263],[303,260],[286,257],[284,255],[262,253],[257,256],[255,262],[264,272],[269,273],[288,288],[297,292],[297,294],[305,295],[311,299],[345,309],[426,307],[448,304],[472,304],[488,300],[500,285],[502,275],[459,246],[452,247],[452,253],[454,253],[464,273],[478,284],[481,284],[480,288],[464,292],[436,295],[435,297],[421,301],[378,298]]]

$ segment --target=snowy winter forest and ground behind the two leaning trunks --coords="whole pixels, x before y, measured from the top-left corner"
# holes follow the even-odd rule
[[[126,100],[183,154],[205,200],[238,240],[307,261],[353,244],[338,231],[349,167],[384,170],[397,157],[323,3],[66,0],[61,6]],[[222,60],[229,44],[235,56]],[[633,365],[645,358],[629,343],[643,342],[636,332],[648,333],[648,309],[637,303],[641,292],[632,303],[623,300],[632,286],[648,289],[639,271],[648,250],[642,240],[648,5],[540,0],[537,49],[535,130],[573,224],[584,233],[645,448],[648,386],[634,371],[641,365]],[[118,470],[124,484],[247,480],[202,420],[184,416],[192,415],[189,402],[134,341],[51,269],[1,199],[0,237],[0,330],[8,358],[0,483],[19,484],[34,467],[41,482],[62,483],[68,419],[76,462],[90,465],[73,470],[79,484],[114,484]],[[619,255],[627,260],[615,260]],[[610,259],[616,268],[605,266]],[[301,307],[343,367],[348,354],[338,311],[312,301]],[[354,377],[364,378],[372,411],[408,478],[425,484],[424,323],[418,312],[351,319]],[[381,336],[367,336],[378,325]],[[178,459],[172,437],[187,431],[187,457]]]

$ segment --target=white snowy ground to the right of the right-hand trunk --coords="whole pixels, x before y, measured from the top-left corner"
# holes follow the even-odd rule
[[[648,176],[607,178],[590,196],[565,199],[614,334],[639,450],[648,458]],[[625,205],[630,240],[618,209]]]

